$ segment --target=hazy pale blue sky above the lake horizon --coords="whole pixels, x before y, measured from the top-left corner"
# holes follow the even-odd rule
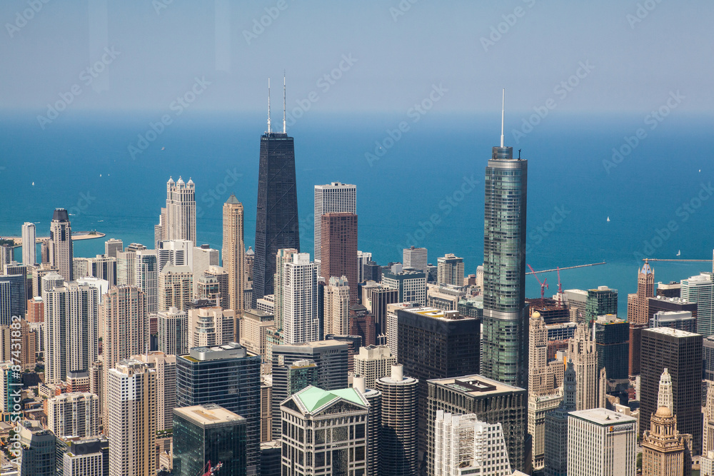
[[[707,0],[45,1],[0,2],[2,109],[74,87],[76,110],[170,111],[194,88],[192,111],[258,111],[271,76],[278,123],[283,69],[288,108],[326,112],[406,112],[434,85],[443,112],[498,110],[502,87],[514,112],[644,115],[676,91],[684,111],[714,106]]]

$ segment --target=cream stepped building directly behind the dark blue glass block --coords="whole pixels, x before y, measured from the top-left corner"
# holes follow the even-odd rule
[[[218,307],[188,310],[188,348],[228,344],[236,335],[236,313]]]

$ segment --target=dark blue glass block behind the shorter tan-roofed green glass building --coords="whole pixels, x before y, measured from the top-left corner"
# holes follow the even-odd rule
[[[215,403],[247,420],[247,475],[260,474],[261,358],[238,343],[176,358],[176,406]]]

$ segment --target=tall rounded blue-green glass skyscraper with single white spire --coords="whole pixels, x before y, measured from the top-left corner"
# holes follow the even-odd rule
[[[528,388],[526,203],[528,161],[494,147],[483,206],[483,356],[481,373]]]

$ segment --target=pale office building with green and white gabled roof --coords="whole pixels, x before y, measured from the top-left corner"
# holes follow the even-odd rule
[[[282,424],[289,430],[282,435],[283,475],[366,473],[369,403],[358,390],[311,386],[282,402],[280,409]],[[301,437],[310,432],[312,441]]]

